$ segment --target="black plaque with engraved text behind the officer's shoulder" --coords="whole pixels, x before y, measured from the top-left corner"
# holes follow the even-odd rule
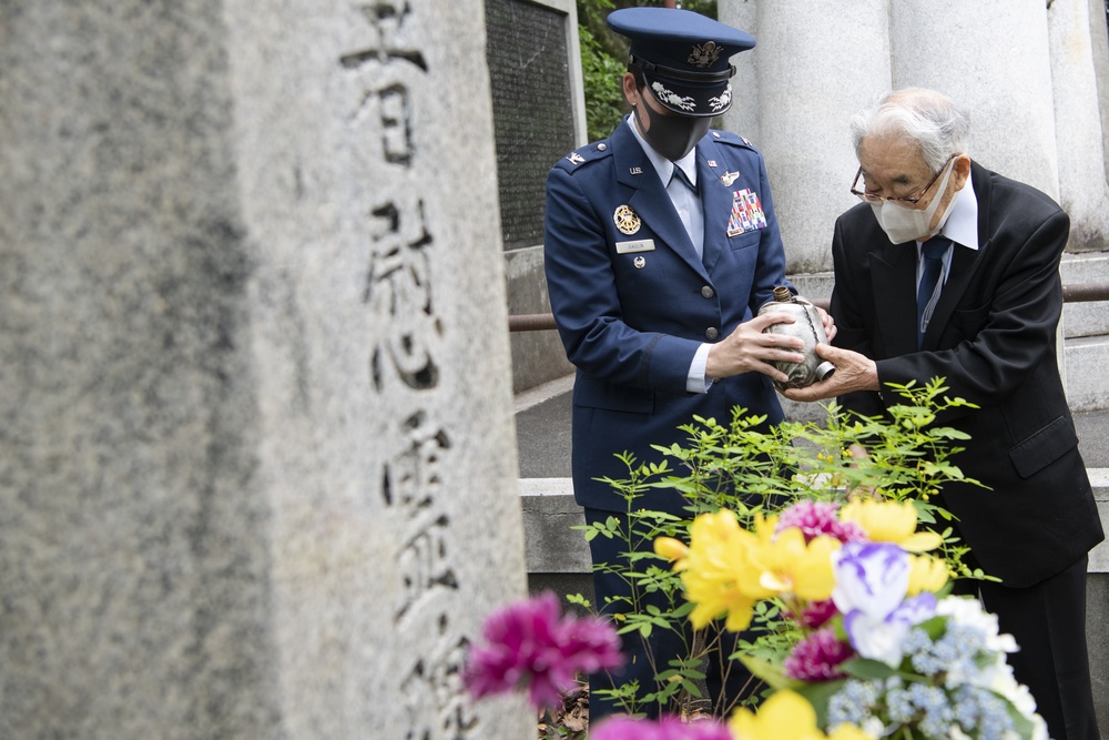
[[[547,171],[576,144],[568,22],[566,13],[527,0],[486,0],[506,250],[542,244]]]

